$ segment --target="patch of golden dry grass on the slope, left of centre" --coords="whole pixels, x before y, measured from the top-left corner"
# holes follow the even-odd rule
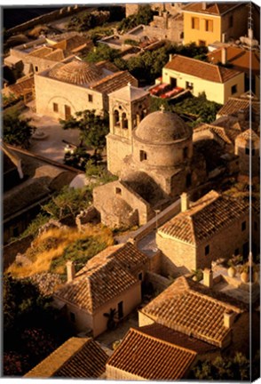
[[[112,244],[114,239],[111,230],[102,225],[88,225],[84,232],[71,228],[51,228],[36,237],[22,261],[13,262],[7,272],[13,277],[28,277],[48,271],[64,275],[67,260],[75,260],[77,270]]]

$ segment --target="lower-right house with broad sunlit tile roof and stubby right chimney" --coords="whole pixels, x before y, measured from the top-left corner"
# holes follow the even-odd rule
[[[138,310],[138,325],[149,324],[161,324],[226,353],[249,354],[249,305],[186,276]]]

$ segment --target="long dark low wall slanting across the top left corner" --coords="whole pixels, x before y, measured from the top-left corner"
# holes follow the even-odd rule
[[[24,22],[18,26],[15,26],[13,28],[8,29],[7,32],[9,32],[11,34],[22,32],[22,31],[25,31],[29,28],[33,28],[39,24],[46,24],[46,23],[53,21],[53,20],[59,20],[59,19],[65,18],[65,17],[67,17],[71,14],[74,14],[76,12],[83,11],[86,8],[89,8],[89,7],[87,7],[87,6],[79,7],[79,5],[77,5],[77,4],[68,5],[64,8],[58,9],[57,11],[45,13],[44,15],[36,17],[35,19],[28,20],[28,21],[26,21],[26,22]]]

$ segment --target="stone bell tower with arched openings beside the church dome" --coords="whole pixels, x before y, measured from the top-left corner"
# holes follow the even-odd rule
[[[124,157],[132,152],[132,130],[148,113],[149,92],[128,84],[108,96],[107,169],[119,175]]]

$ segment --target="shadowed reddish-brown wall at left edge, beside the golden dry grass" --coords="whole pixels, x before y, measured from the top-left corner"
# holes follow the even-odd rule
[[[24,253],[27,251],[31,242],[33,241],[34,236],[29,235],[27,237],[23,237],[20,240],[16,240],[10,244],[6,244],[3,247],[3,269],[8,268],[12,262],[15,260],[17,253]]]

